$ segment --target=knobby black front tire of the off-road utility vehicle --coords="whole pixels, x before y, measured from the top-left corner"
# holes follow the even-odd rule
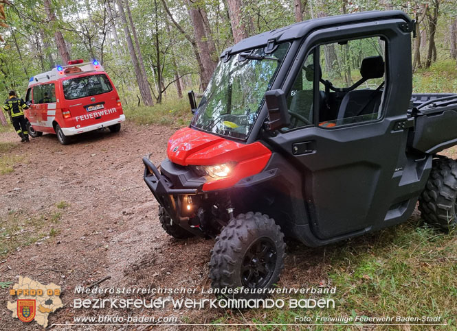
[[[245,266],[252,255],[249,255],[248,252],[251,252],[250,249],[258,245],[258,243],[262,243],[262,241],[271,243],[271,249],[276,250],[274,264],[271,263],[267,269],[263,265],[263,269],[270,270],[272,273],[269,275],[269,279],[267,279],[267,276],[263,278],[265,284],[260,283],[258,284],[260,286],[249,286],[249,283],[246,283],[245,275],[247,272],[249,275],[252,275],[252,271],[246,271]],[[225,287],[236,289],[241,286],[245,288],[254,287],[256,289],[271,288],[278,282],[280,272],[284,268],[285,247],[284,234],[282,234],[280,226],[275,223],[274,219],[270,219],[267,215],[260,214],[260,212],[256,212],[255,214],[254,212],[238,214],[236,218],[232,219],[223,228],[221,234],[216,237],[216,243],[214,244],[210,260],[210,278],[213,289],[223,289]],[[273,250],[269,252],[269,255],[271,255]],[[263,262],[262,260],[265,261],[268,258],[257,260]],[[251,263],[249,262],[249,265]],[[256,277],[254,276],[254,278]],[[235,293],[234,295],[230,295],[229,293],[226,296],[255,299],[263,298],[267,295],[258,293]]]

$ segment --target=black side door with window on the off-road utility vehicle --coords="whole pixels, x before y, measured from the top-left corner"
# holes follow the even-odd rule
[[[405,165],[406,136],[393,127],[406,119],[411,64],[394,53],[397,47],[410,54],[410,36],[397,21],[314,32],[285,82],[291,125],[271,142],[304,174],[304,204],[320,239],[377,227],[399,202],[390,192],[399,181],[394,172]],[[378,78],[359,84],[365,58],[373,62],[364,75]]]

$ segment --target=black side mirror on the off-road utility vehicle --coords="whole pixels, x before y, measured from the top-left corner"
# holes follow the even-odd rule
[[[265,93],[268,109],[267,130],[274,131],[291,123],[287,110],[286,95],[283,90],[269,90]]]

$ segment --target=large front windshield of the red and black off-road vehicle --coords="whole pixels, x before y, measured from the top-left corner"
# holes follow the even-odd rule
[[[284,43],[270,54],[260,48],[219,61],[191,125],[246,139],[287,49],[289,43]]]

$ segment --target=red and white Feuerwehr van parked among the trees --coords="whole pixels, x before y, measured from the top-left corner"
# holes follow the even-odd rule
[[[96,60],[71,60],[30,78],[25,102],[30,136],[55,133],[62,145],[70,136],[103,127],[119,132],[125,121],[118,92]]]

